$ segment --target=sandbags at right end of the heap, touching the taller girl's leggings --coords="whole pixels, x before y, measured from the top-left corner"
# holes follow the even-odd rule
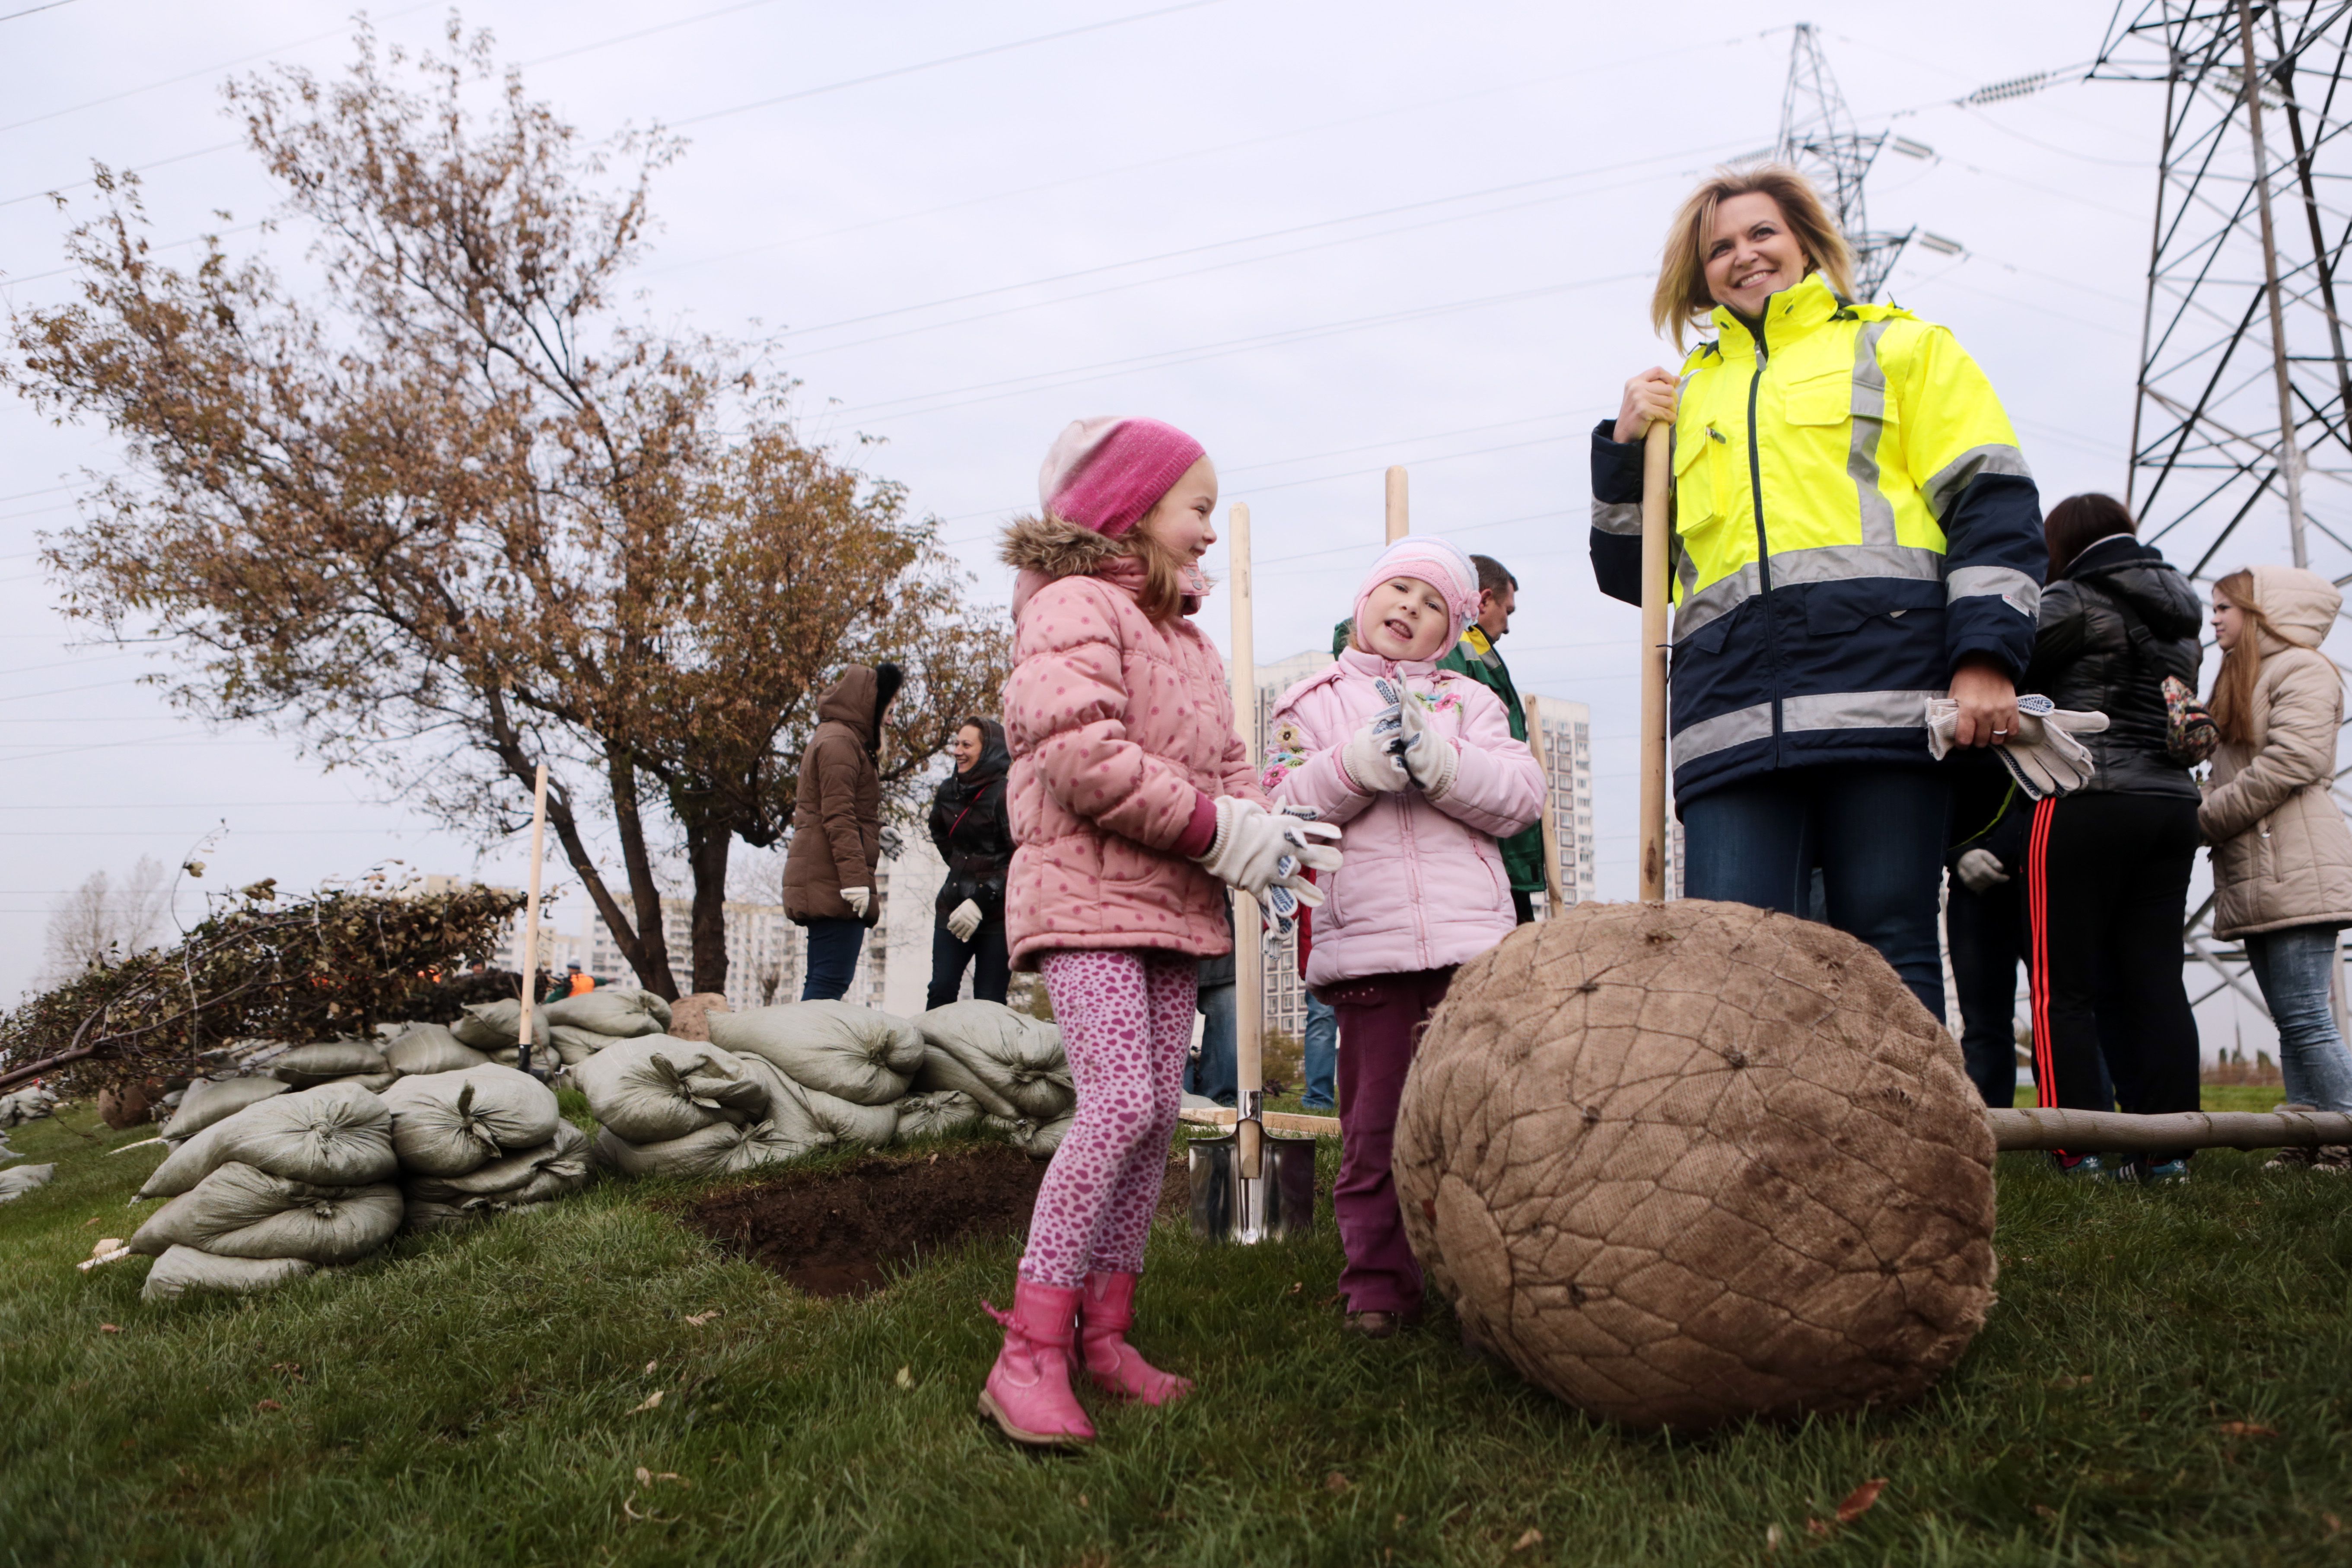
[[[920,1093],[901,1103],[901,1119],[927,1133],[981,1121],[1033,1159],[1061,1147],[1077,1110],[1061,1025],[1000,1001],[950,1001],[915,1027],[922,1032]]]

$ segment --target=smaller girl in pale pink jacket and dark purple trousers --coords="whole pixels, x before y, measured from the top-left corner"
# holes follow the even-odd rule
[[[1404,1072],[1454,969],[1517,924],[1496,839],[1543,816],[1543,769],[1503,701],[1435,665],[1475,609],[1470,557],[1397,541],[1357,592],[1348,651],[1272,717],[1272,797],[1338,823],[1348,856],[1312,917],[1308,985],[1338,1013],[1338,1288],[1374,1338],[1421,1312],[1390,1178]]]

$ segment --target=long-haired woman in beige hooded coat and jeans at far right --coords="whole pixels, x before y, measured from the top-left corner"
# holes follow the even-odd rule
[[[2213,585],[2223,741],[2197,811],[2213,846],[2213,931],[2246,943],[2279,1025],[2286,1098],[2319,1110],[2352,1110],[2352,1051],[2328,1006],[2336,931],[2352,926],[2352,830],[2328,792],[2345,693],[2319,651],[2340,607],[2326,578],[2298,567]]]

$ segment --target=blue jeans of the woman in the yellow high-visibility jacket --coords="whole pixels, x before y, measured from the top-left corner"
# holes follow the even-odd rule
[[[1802,914],[1818,865],[1830,924],[1877,947],[1943,1023],[1950,795],[1926,764],[1780,769],[1708,790],[1682,806],[1682,891]]]

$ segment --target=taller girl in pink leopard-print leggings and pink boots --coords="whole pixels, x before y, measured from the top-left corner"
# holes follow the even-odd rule
[[[1044,976],[1077,1084],[1047,1166],[981,1410],[1021,1443],[1082,1443],[1073,1342],[1105,1389],[1167,1403],[1192,1385],[1127,1342],[1192,1046],[1197,961],[1232,947],[1225,889],[1312,903],[1338,837],[1270,813],[1232,729],[1225,663],[1188,618],[1209,592],[1216,468],[1155,418],[1082,418],[1016,522],[1014,969]]]

